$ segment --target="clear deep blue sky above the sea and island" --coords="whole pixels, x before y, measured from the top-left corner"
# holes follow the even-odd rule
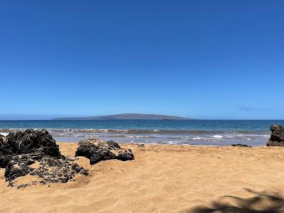
[[[0,119],[284,119],[284,1],[1,1]]]

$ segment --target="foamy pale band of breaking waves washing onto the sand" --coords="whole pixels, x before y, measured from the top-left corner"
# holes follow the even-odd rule
[[[0,129],[0,134],[23,129]],[[264,145],[270,134],[266,131],[205,131],[168,129],[47,129],[57,141],[80,141],[98,137],[118,142],[168,143],[194,145],[229,145],[247,143]]]

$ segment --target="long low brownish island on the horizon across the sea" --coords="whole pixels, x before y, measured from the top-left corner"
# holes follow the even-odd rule
[[[112,114],[107,116],[57,118],[53,120],[191,120],[191,119],[179,116],[166,116],[161,114]]]

